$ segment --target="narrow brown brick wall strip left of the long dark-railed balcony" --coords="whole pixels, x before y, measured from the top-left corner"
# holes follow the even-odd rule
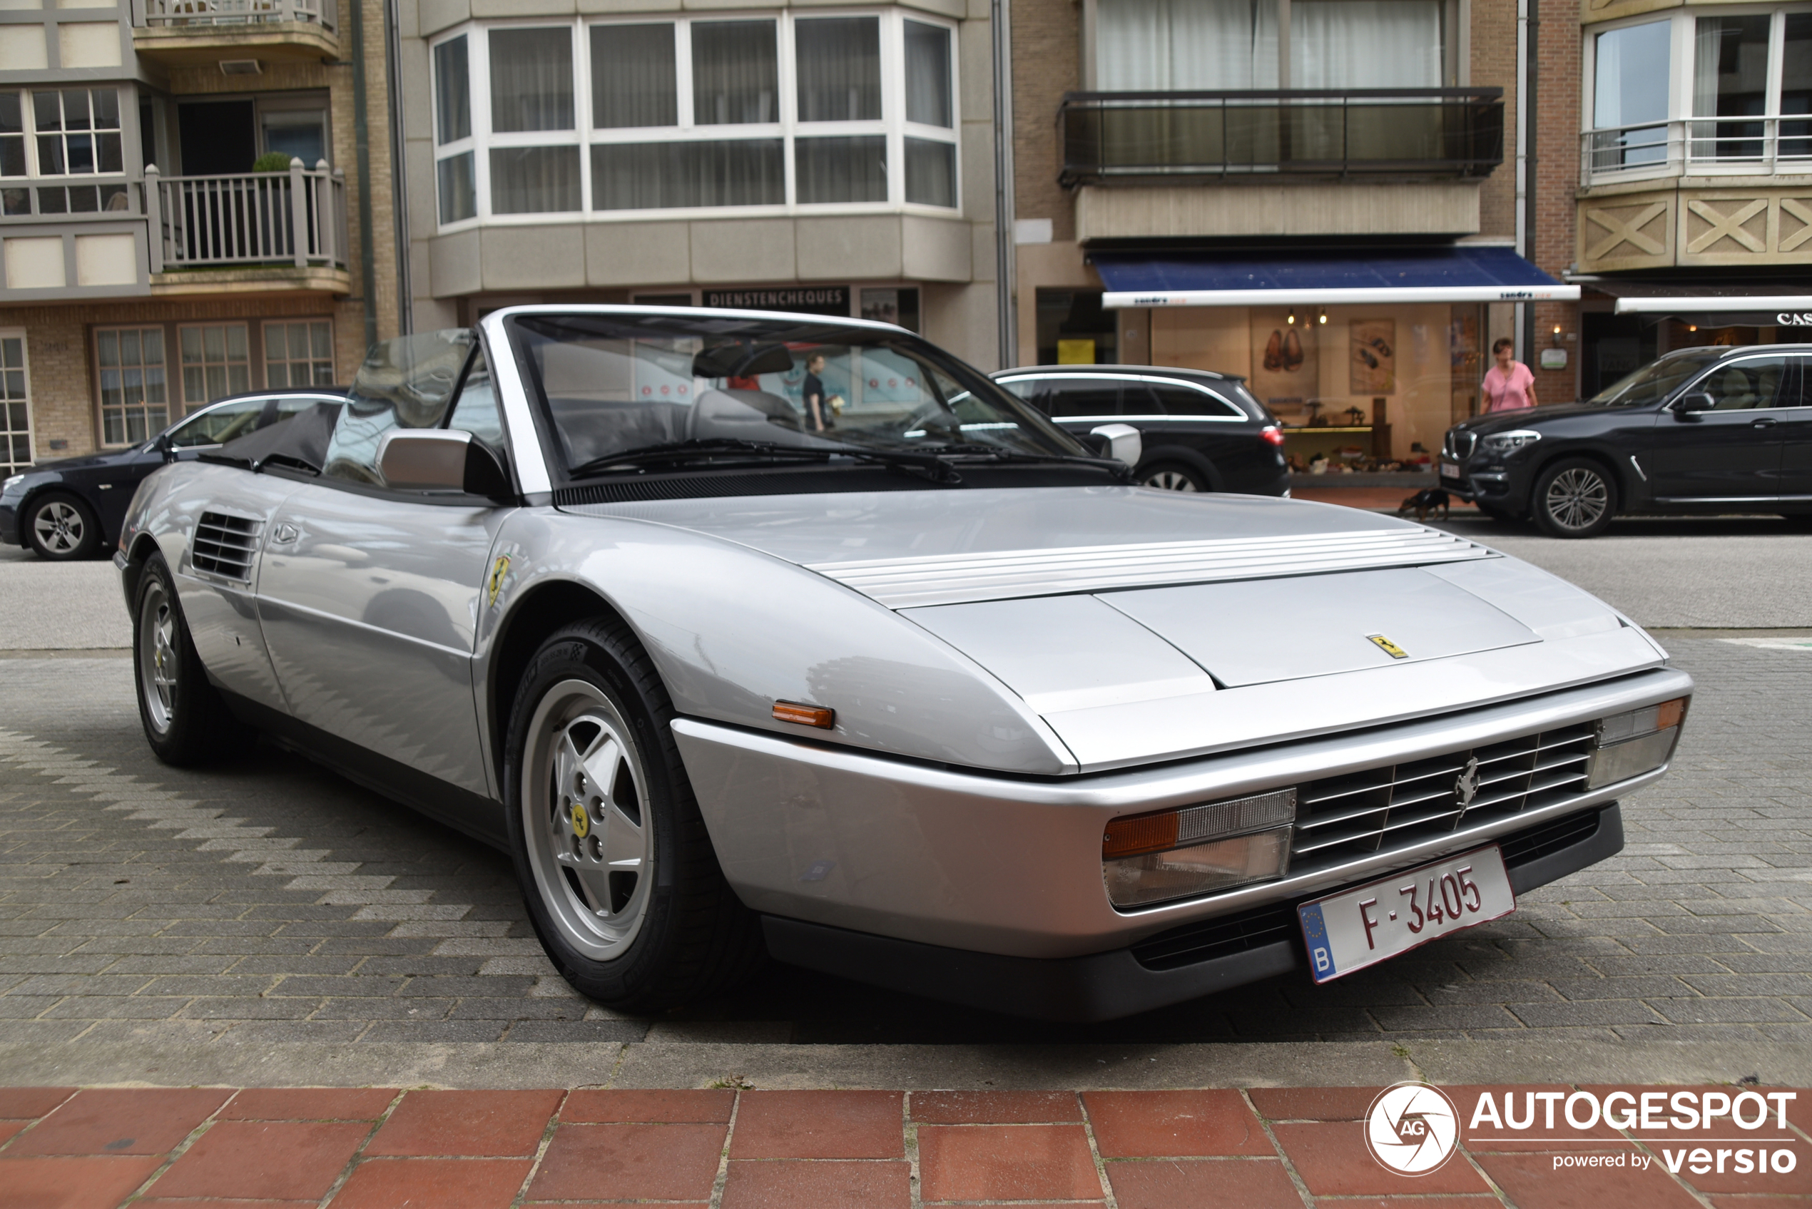
[[[1082,87],[1082,5],[1013,0],[1013,205],[1051,219],[1051,239],[1076,237],[1075,201],[1056,183],[1056,105]]]

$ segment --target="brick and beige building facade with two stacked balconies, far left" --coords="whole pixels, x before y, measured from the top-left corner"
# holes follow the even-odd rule
[[[397,332],[386,58],[381,0],[0,11],[7,468],[346,382]]]

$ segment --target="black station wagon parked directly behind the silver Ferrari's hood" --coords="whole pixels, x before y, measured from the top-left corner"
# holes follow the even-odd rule
[[[989,377],[1078,437],[1102,424],[1136,428],[1136,473],[1147,488],[1288,495],[1283,428],[1243,379],[1132,364],[1026,366]]]

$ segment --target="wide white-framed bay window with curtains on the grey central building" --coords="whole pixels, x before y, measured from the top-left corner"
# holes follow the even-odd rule
[[[953,54],[897,11],[471,25],[431,54],[440,225],[955,208]]]

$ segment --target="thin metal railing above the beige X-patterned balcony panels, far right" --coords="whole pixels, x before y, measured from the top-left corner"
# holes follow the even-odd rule
[[[1580,136],[1587,185],[1663,176],[1812,174],[1812,114],[1683,118]]]

